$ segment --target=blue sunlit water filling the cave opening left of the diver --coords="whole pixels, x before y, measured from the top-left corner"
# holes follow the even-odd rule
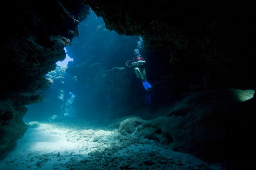
[[[45,76],[52,85],[42,92],[44,101],[27,105],[24,122],[69,117],[110,123],[113,119],[128,116],[122,108],[129,97],[124,89],[131,86],[135,74],[126,64],[135,51],[140,52],[139,55],[146,53],[142,38],[119,35],[106,29],[103,19],[92,10],[78,28],[79,36],[73,38],[71,46],[64,48],[65,59],[56,62],[56,69]],[[118,76],[123,76],[124,80]],[[121,98],[123,106],[117,102]],[[122,114],[111,115],[113,110]]]

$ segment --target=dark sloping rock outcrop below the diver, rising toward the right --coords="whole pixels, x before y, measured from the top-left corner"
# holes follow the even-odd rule
[[[256,130],[256,109],[252,100],[241,102],[247,93],[236,89],[184,93],[161,117],[117,121],[119,132],[153,139],[207,161],[253,162],[256,147],[250,136]]]

